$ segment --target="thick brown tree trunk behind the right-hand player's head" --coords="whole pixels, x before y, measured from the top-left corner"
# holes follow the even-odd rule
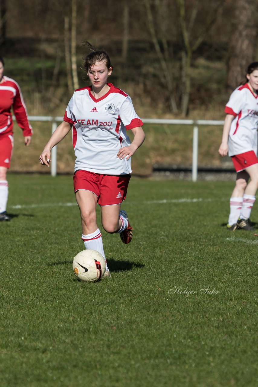
[[[232,34],[229,39],[227,88],[231,93],[244,80],[246,68],[255,61],[257,39],[257,0],[235,0]]]

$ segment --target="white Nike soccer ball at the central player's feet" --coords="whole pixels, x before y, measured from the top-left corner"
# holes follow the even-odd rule
[[[95,250],[82,250],[73,258],[73,272],[80,281],[98,281],[105,271],[106,261]]]

